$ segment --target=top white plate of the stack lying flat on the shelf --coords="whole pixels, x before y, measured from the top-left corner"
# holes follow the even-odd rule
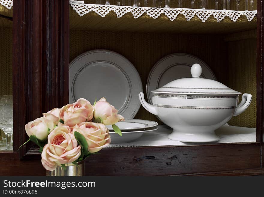
[[[140,120],[140,119],[125,119],[125,121],[117,122],[116,125],[122,130],[143,130],[158,125],[155,121]],[[113,131],[112,125],[106,126],[109,131]]]

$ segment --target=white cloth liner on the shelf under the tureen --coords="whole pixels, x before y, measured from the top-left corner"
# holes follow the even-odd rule
[[[116,147],[137,147],[137,146],[173,146],[173,145],[197,145],[197,143],[187,143],[174,141],[168,138],[172,129],[166,125],[158,125],[158,130],[146,132],[137,141],[120,144],[110,144],[107,148]],[[220,137],[219,143],[233,142],[256,142],[256,128],[235,127],[225,124],[215,131]],[[202,144],[202,143],[201,143]],[[208,144],[208,143],[205,143]],[[212,144],[212,142],[210,143]]]

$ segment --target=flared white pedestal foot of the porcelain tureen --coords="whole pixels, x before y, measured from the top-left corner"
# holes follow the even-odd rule
[[[179,130],[173,130],[168,138],[180,142],[216,142],[220,139],[214,131],[186,132]]]

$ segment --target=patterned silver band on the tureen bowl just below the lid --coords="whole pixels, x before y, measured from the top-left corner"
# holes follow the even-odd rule
[[[155,94],[152,97],[167,98],[186,98],[186,99],[236,99],[237,96],[196,96],[196,95],[177,95],[177,94]]]

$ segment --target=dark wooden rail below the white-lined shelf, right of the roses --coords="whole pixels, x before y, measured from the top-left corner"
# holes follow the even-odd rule
[[[86,175],[183,175],[259,168],[258,144],[109,148],[86,160]]]

